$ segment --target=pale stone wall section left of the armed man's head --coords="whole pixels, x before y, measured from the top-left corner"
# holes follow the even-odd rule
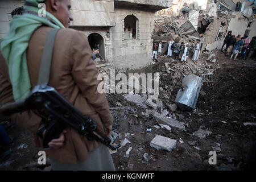
[[[25,1],[0,1],[0,40],[6,36],[9,31],[9,22],[13,18],[11,12],[17,7],[23,6]]]

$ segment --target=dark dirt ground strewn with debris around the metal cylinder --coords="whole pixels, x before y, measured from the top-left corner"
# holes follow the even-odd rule
[[[163,109],[185,125],[185,130],[171,127],[156,129],[158,121],[152,116],[143,115],[145,110],[127,101],[121,94],[107,94],[110,111],[114,118],[113,131],[118,134],[114,143],[121,143],[125,138],[129,140],[122,148],[112,154],[115,168],[122,170],[244,170],[246,156],[256,139],[256,126],[245,126],[244,123],[255,123],[255,93],[256,75],[255,60],[229,60],[222,52],[217,52],[217,62],[208,63],[208,55],[201,57],[198,63],[188,60],[188,65],[196,69],[212,69],[213,82],[203,82],[195,111],[171,111],[167,105],[173,104],[177,91],[181,85],[181,78],[185,75],[178,70],[183,68],[180,61],[173,61],[163,56],[147,68],[126,73],[155,73],[163,72],[160,76],[159,98],[163,101]],[[174,82],[167,74],[164,63],[175,64]],[[175,67],[175,65],[173,65]],[[186,68],[187,69],[187,68]],[[191,73],[191,70],[189,71]],[[167,76],[166,76],[167,74]],[[195,73],[200,75],[200,71]],[[168,85],[168,89],[164,87]],[[171,89],[171,90],[169,90]],[[168,99],[167,99],[168,98]],[[134,117],[138,115],[138,118]],[[151,129],[151,132],[147,131]],[[193,135],[195,131],[203,129],[212,133],[205,138]],[[11,155],[1,162],[1,170],[49,170],[46,166],[38,166],[39,148],[35,148],[32,134],[13,125],[7,130],[13,142],[9,146]],[[173,151],[156,150],[150,147],[150,141],[162,135],[177,140]],[[130,148],[129,155],[126,155]],[[217,151],[217,164],[210,165],[209,151]]]

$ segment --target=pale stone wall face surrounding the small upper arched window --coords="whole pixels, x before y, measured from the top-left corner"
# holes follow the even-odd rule
[[[134,15],[138,19],[137,39],[125,39],[124,27],[127,15]],[[137,69],[150,64],[153,31],[154,13],[115,9],[115,27],[112,27],[113,66],[117,69]]]

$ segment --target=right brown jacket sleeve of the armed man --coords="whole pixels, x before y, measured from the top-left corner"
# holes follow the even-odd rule
[[[101,80],[97,80],[98,70],[93,61],[92,50],[88,40],[82,32],[73,35],[71,43],[72,76],[81,90],[82,96],[94,107],[100,115],[105,127],[112,125],[113,119],[109,110],[105,93],[97,90]]]

